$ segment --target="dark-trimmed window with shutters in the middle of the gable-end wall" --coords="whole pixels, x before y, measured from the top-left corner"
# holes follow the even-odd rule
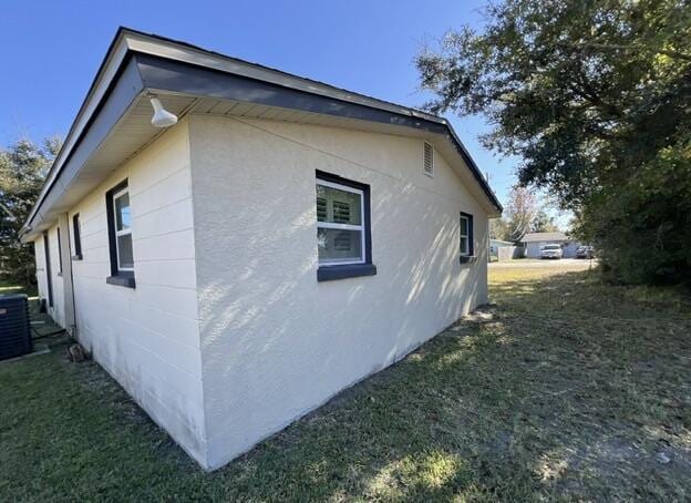
[[[317,172],[317,280],[373,276],[370,186]]]

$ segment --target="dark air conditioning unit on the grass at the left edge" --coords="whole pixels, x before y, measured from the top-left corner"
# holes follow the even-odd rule
[[[0,295],[0,360],[31,352],[29,302],[25,295]]]

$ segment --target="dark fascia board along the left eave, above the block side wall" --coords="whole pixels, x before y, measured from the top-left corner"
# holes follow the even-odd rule
[[[31,228],[33,220],[41,217],[41,207],[50,207],[55,203],[61,193],[52,191],[58,183],[61,187],[69,186],[78,172],[86,163],[89,157],[96,151],[99,145],[107,137],[117,121],[124,115],[136,96],[144,90],[142,78],[136,61],[132,55],[124,59],[116,72],[115,79],[106,90],[94,113],[90,117],[82,134],[75,141],[75,145],[66,153],[60,171],[45,187],[43,197],[37,202],[34,212],[24,224],[24,233]]]

